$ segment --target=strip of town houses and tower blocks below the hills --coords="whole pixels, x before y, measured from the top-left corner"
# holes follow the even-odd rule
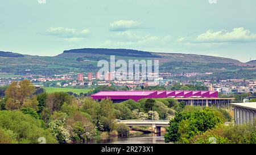
[[[3,73],[1,73],[3,74]],[[236,94],[236,93],[256,93],[256,80],[255,79],[221,79],[221,80],[210,80],[210,79],[195,79],[202,75],[212,75],[213,73],[207,72],[201,73],[184,73],[184,74],[171,74],[170,72],[160,72],[159,76],[150,75],[154,80],[133,80],[124,79],[119,76],[115,76],[114,73],[107,73],[106,75],[100,75],[98,72],[92,73],[79,73],[75,74],[70,72],[69,74],[63,75],[26,75],[16,76],[9,78],[0,78],[0,86],[11,84],[12,81],[20,81],[24,79],[30,80],[37,87],[77,87],[82,86],[83,88],[93,87],[95,85],[115,85],[117,87],[128,87],[133,90],[137,87],[148,87],[148,86],[160,86],[168,87],[175,83],[180,84],[199,84],[208,87],[209,91],[217,91],[221,94]],[[125,74],[123,74],[125,75]],[[104,77],[103,77],[104,76]],[[183,76],[185,80],[179,80],[176,77]],[[123,76],[124,77],[124,76]]]

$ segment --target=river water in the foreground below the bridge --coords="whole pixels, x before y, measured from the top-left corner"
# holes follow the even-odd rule
[[[100,140],[97,143],[113,144],[162,144],[164,143],[164,133],[162,134],[142,134],[131,137],[110,137]]]

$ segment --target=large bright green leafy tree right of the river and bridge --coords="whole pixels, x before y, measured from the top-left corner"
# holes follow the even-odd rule
[[[194,136],[203,134],[229,119],[230,117],[227,117],[222,110],[187,106],[170,120],[170,127],[164,136],[165,141],[189,143]]]

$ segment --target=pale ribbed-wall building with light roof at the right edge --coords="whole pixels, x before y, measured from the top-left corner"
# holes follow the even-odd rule
[[[236,124],[253,122],[256,118],[256,102],[234,103],[234,120]]]

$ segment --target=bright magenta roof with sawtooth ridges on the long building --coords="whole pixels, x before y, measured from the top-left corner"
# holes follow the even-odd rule
[[[142,98],[216,98],[217,91],[102,91],[91,96],[94,100],[102,100],[110,98],[111,100],[134,100],[138,101]]]

